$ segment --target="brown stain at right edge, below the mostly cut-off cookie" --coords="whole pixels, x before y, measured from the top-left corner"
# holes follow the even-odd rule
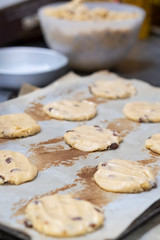
[[[160,171],[160,154],[146,148],[143,148],[142,151],[148,151],[149,156],[148,158],[139,160],[138,162],[142,163],[143,165],[148,165],[154,170],[156,174],[158,174],[158,172]]]

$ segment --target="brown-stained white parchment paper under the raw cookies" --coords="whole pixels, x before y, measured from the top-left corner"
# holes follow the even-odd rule
[[[46,237],[24,225],[25,206],[35,198],[59,193],[72,193],[87,199],[104,210],[104,226],[73,240],[115,239],[148,207],[159,199],[160,157],[145,149],[144,142],[160,131],[160,123],[135,123],[126,120],[122,108],[130,101],[160,101],[160,89],[139,81],[130,80],[137,88],[137,95],[122,100],[107,101],[95,98],[88,86],[97,79],[115,78],[107,71],[88,77],[69,73],[48,87],[0,104],[0,114],[27,112],[39,121],[42,131],[28,138],[0,140],[0,150],[19,151],[25,154],[39,169],[34,181],[19,186],[0,186],[0,223],[27,233],[34,240],[56,239]],[[42,106],[60,99],[88,99],[98,104],[98,114],[89,121],[69,122],[50,120],[42,112]],[[71,149],[63,135],[79,125],[100,125],[118,130],[124,141],[116,150],[84,153]],[[100,161],[122,158],[142,161],[157,172],[158,187],[138,194],[116,194],[101,190],[93,181],[93,174]],[[62,238],[63,239],[63,238]]]

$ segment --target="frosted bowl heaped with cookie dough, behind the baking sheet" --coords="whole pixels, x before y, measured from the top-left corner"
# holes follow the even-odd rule
[[[51,49],[69,58],[76,70],[115,66],[138,38],[145,11],[122,3],[74,0],[38,11],[44,39]]]

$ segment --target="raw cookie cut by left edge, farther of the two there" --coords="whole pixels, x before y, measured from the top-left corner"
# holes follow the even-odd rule
[[[0,116],[0,138],[21,138],[40,132],[41,128],[26,113]]]

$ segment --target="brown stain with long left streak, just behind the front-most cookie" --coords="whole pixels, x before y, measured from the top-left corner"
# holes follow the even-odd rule
[[[96,157],[97,158],[97,157]],[[57,188],[56,190],[51,190],[42,195],[36,195],[30,200],[21,199],[18,202],[14,203],[12,207],[12,217],[24,215],[26,206],[33,200],[39,199],[44,196],[50,196],[59,192],[63,192],[66,190],[70,190],[69,193],[73,194],[75,197],[79,197],[81,199],[90,201],[91,203],[97,206],[104,206],[112,201],[115,201],[121,194],[106,192],[101,189],[93,179],[93,175],[97,170],[97,166],[94,167],[83,167],[81,170],[77,172],[77,178],[72,184],[66,184],[61,188]],[[82,185],[82,188],[79,188],[77,191],[72,191],[72,188]]]

